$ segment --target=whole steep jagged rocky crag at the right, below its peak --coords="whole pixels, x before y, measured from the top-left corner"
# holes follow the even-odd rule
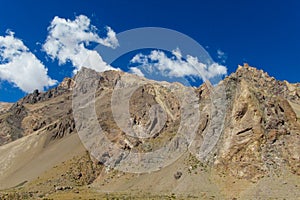
[[[299,174],[299,120],[288,101],[299,105],[294,96],[299,86],[288,88],[286,82],[247,65],[223,83],[232,87],[232,82],[216,168],[253,181],[286,168]]]

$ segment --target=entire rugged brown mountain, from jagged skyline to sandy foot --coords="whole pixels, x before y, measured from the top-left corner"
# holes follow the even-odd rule
[[[83,68],[0,106],[0,199],[300,196],[300,84],[247,64],[199,88]]]

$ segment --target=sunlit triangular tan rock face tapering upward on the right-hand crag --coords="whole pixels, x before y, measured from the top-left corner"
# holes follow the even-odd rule
[[[262,113],[247,83],[240,83],[232,109],[228,110],[226,128],[219,143],[215,164],[233,176],[253,178],[263,171],[261,144],[263,128]],[[254,164],[255,163],[255,164]]]

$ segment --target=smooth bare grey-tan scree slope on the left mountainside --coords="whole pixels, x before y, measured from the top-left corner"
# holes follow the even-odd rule
[[[44,146],[46,133],[34,133],[0,146],[0,189],[33,180],[46,170],[84,152],[77,134]]]

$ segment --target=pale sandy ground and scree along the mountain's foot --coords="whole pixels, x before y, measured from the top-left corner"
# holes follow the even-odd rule
[[[72,161],[74,162],[74,161]],[[61,174],[70,161],[52,168],[33,185]],[[182,172],[179,179],[176,172]],[[266,176],[258,182],[219,176],[213,170],[199,165],[188,153],[175,163],[160,171],[144,174],[130,174],[115,170],[102,173],[89,186],[75,186],[71,190],[50,192],[50,199],[297,199],[299,177],[286,172],[282,176]],[[42,182],[41,182],[42,183]],[[53,183],[52,183],[53,184]],[[51,184],[50,184],[51,185]],[[47,188],[24,188],[25,191],[43,191]],[[48,189],[49,190],[49,189]]]

